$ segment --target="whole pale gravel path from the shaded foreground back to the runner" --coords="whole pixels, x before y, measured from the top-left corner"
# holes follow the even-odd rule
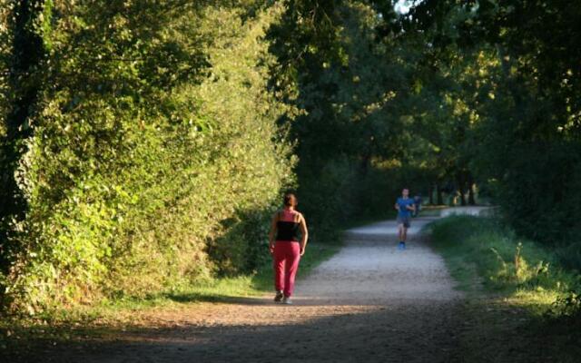
[[[293,306],[271,296],[156,315],[158,328],[47,352],[58,362],[448,362],[461,299],[413,221],[407,250],[385,221],[297,283]],[[87,348],[87,347],[92,348]]]

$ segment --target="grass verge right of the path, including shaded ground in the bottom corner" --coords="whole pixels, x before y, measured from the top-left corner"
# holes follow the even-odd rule
[[[500,221],[452,216],[428,226],[466,299],[458,314],[462,361],[577,362],[579,319],[556,300],[579,288],[553,250],[517,238]]]

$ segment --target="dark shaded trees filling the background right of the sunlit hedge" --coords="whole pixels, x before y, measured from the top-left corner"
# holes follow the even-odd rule
[[[399,188],[492,201],[581,267],[579,6],[288,1],[271,31],[304,206],[317,226],[389,211]],[[436,197],[436,198],[433,198]]]

